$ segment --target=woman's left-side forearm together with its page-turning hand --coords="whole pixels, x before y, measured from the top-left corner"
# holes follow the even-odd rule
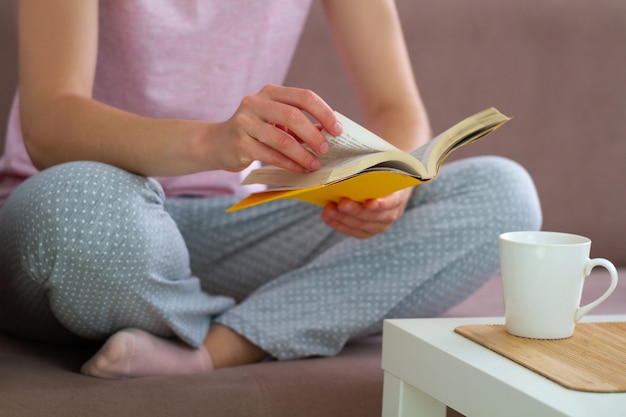
[[[316,154],[327,146],[306,114],[331,134],[341,130],[315,93],[272,85],[218,122],[146,118],[84,95],[46,92],[22,94],[21,111],[26,147],[39,168],[92,160],[147,176],[241,171],[255,160],[307,172],[319,168]]]

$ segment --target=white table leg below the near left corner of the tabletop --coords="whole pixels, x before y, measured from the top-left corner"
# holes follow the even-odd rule
[[[385,372],[383,417],[446,417],[446,405]]]

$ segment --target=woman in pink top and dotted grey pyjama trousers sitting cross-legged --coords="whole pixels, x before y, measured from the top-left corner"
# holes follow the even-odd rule
[[[322,2],[366,127],[424,143],[393,1]],[[319,127],[341,132],[280,85],[309,6],[20,1],[0,162],[0,303],[20,319],[0,328],[106,340],[82,369],[105,378],[334,355],[387,317],[445,311],[496,271],[498,234],[539,227],[532,182],[500,158],[364,204],[224,213],[256,161],[314,171]]]

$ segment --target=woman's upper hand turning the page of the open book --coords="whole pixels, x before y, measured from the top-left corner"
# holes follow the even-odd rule
[[[255,160],[301,173],[319,169],[317,155],[328,151],[328,143],[306,113],[330,134],[341,133],[333,110],[310,90],[267,85],[245,97],[214,136],[220,141],[213,146],[214,164],[228,171],[240,171]]]

